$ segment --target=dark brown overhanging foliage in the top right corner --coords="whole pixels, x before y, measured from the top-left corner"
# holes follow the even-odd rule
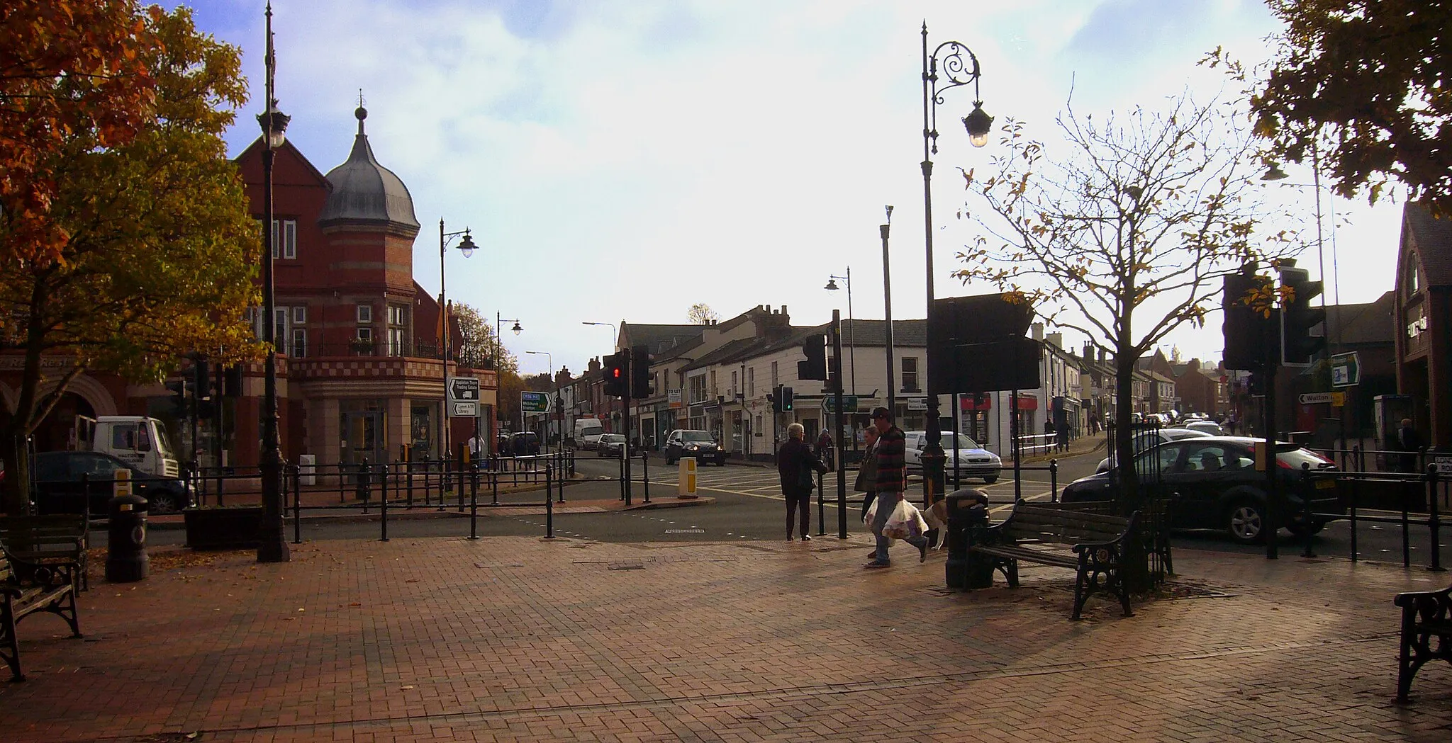
[[[1252,97],[1256,131],[1286,160],[1320,160],[1336,193],[1371,202],[1391,181],[1452,215],[1452,4],[1269,0],[1285,22]]]

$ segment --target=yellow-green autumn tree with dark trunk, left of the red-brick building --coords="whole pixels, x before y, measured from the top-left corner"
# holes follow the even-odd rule
[[[0,411],[9,512],[23,506],[26,434],[81,373],[155,382],[190,351],[221,363],[260,351],[242,322],[258,300],[260,226],[221,136],[245,102],[240,51],[197,33],[186,7],[135,20],[151,39],[136,52],[157,89],[148,118],[123,142],[80,128],[39,157],[55,177],[57,250],[9,222],[0,232],[0,350],[23,358],[15,406]]]

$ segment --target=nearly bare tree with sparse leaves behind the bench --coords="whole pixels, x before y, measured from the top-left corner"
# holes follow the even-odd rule
[[[1069,107],[1053,152],[1009,122],[987,177],[964,173],[973,200],[961,216],[982,232],[955,276],[1015,292],[1047,322],[1109,348],[1114,419],[1130,421],[1135,363],[1170,331],[1204,325],[1227,273],[1294,247],[1294,234],[1263,229],[1260,160],[1243,122],[1188,93],[1104,122]],[[1133,460],[1128,427],[1114,446]],[[1119,469],[1130,508],[1133,470]]]

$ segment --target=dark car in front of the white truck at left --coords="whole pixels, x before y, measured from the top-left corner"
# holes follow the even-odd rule
[[[134,493],[152,514],[176,514],[192,505],[183,480],[160,477],[100,451],[41,451],[35,456],[35,508],[41,514],[107,515],[116,470],[131,470]]]

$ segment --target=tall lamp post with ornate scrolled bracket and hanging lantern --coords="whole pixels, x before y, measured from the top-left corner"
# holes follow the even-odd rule
[[[939,78],[939,70],[942,75]],[[993,129],[993,116],[983,110],[979,96],[979,58],[960,42],[948,41],[928,54],[928,23],[922,25],[922,221],[928,250],[928,313],[932,315],[932,155],[938,152],[938,104],[951,89],[973,84],[973,112],[963,118],[968,142],[983,147]],[[886,228],[884,228],[886,229]],[[886,232],[884,232],[886,242]],[[931,369],[932,364],[929,363]],[[892,377],[889,377],[890,383]],[[1016,412],[1016,411],[1015,411]],[[923,505],[932,505],[944,493],[942,432],[938,430],[938,396],[928,395],[928,446],[922,453]]]

